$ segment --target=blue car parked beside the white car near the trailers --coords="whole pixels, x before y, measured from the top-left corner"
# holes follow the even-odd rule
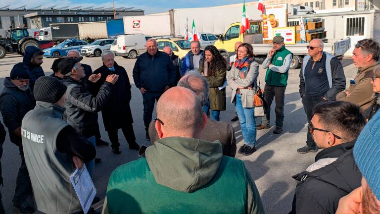
[[[66,40],[62,43],[59,43],[55,47],[45,49],[44,56],[45,57],[60,57],[66,56],[67,52],[71,50],[77,50],[81,52],[83,46],[89,45],[87,42],[83,40]]]

